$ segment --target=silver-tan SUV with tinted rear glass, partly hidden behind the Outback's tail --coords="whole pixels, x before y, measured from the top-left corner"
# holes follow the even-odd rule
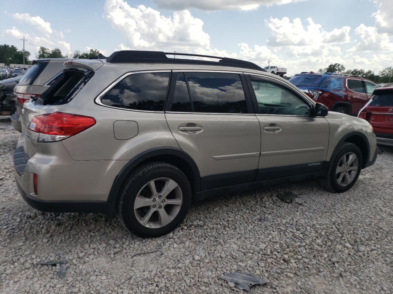
[[[22,105],[32,97],[39,97],[50,85],[56,82],[63,71],[63,63],[70,59],[53,58],[33,60],[33,66],[19,80],[15,87],[16,112],[11,115],[11,124],[21,131],[20,114]]]

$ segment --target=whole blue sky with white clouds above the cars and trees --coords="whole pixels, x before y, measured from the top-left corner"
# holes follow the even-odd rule
[[[56,3],[56,4],[55,4]],[[288,75],[393,66],[392,0],[0,0],[0,44],[226,56]]]

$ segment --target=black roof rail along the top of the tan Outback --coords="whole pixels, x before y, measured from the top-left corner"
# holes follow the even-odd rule
[[[167,57],[167,55],[174,55],[174,58],[169,58]],[[215,58],[215,59],[219,59],[219,61],[216,62],[216,61],[209,61],[209,60],[176,58],[176,55]],[[244,67],[248,69],[256,69],[258,71],[265,71],[264,69],[262,69],[262,67],[252,62],[234,59],[234,58],[210,56],[210,55],[202,55],[202,54],[163,52],[163,51],[138,51],[138,50],[116,51],[107,58],[107,62],[108,63],[171,63],[171,64],[219,65],[219,66],[231,66],[231,67]]]

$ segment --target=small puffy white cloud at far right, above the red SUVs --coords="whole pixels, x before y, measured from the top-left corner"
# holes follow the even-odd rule
[[[393,43],[389,40],[387,33],[378,33],[376,27],[367,27],[360,24],[355,33],[360,36],[360,42],[357,42],[351,49],[353,51],[393,51]]]

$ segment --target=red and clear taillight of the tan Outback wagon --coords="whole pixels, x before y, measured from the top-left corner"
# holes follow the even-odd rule
[[[39,142],[55,142],[82,132],[94,124],[95,119],[90,116],[55,112],[34,116],[29,130],[40,133]]]

